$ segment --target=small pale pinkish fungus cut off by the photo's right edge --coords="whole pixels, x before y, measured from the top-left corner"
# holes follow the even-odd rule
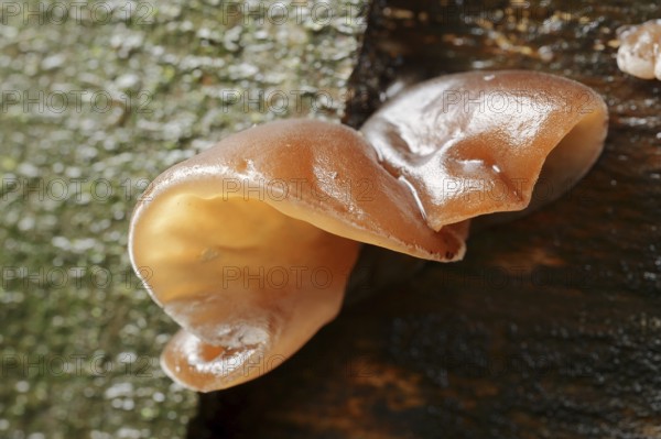
[[[617,66],[642,79],[661,80],[661,19],[617,30]]]

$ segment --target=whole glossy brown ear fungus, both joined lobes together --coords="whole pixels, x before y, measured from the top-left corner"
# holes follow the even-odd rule
[[[271,122],[173,166],[129,233],[133,268],[182,327],[163,369],[201,392],[268,373],[335,318],[362,243],[460,260],[472,218],[530,208],[540,175],[583,176],[606,118],[567,79],[449,75],[404,90],[361,132]]]

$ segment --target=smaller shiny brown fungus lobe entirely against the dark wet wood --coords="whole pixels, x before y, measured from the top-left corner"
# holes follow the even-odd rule
[[[592,89],[533,72],[442,76],[401,91],[361,128],[410,184],[429,226],[522,210],[544,180],[559,197],[602,152],[607,109]]]

